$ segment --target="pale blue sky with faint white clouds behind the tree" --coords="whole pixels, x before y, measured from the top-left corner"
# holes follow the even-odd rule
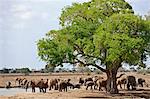
[[[0,0],[0,69],[44,68],[37,41],[49,30],[59,29],[64,6],[84,1],[88,0]],[[150,11],[150,0],[126,1],[138,15]]]

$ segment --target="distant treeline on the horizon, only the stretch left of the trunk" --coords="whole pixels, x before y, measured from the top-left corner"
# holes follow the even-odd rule
[[[72,69],[68,69],[68,68],[54,68],[54,67],[45,67],[44,69],[40,69],[40,70],[35,70],[32,69],[30,70],[29,68],[16,68],[16,69],[10,69],[10,68],[3,68],[0,70],[0,73],[58,73],[58,72],[96,72],[96,73],[102,73],[100,70],[96,69],[96,68],[88,68],[88,67],[78,67],[78,68],[72,68]]]

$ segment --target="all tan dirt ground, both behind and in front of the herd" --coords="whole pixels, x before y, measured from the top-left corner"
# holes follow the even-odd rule
[[[118,73],[119,75],[120,73]],[[133,75],[136,78],[144,78],[146,82],[150,85],[150,74],[137,74],[137,73],[125,73],[125,76]],[[71,79],[72,83],[78,83],[79,77],[92,77],[95,74],[87,75],[82,73],[57,73],[57,74],[31,74],[29,76],[24,75],[0,75],[0,87],[4,87],[6,82],[11,81],[12,86],[16,86],[15,79],[26,78],[28,80],[40,80],[43,79]],[[105,74],[99,74],[97,76],[106,77]],[[86,90],[85,86],[82,86],[81,89],[69,89],[68,92],[59,92],[58,90],[48,91],[47,93],[40,93],[39,90],[36,93],[23,92],[15,94],[12,96],[0,96],[0,99],[150,99],[150,86],[149,87],[138,87],[136,91],[127,91],[126,89],[119,89],[119,94],[110,95],[105,91],[98,90]],[[31,90],[31,89],[29,89]]]

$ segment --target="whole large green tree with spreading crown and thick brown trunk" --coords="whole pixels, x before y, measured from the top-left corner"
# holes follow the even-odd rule
[[[62,10],[59,30],[38,41],[38,55],[52,64],[95,66],[107,74],[107,91],[118,93],[123,63],[143,65],[149,52],[150,24],[124,0],[92,0]]]

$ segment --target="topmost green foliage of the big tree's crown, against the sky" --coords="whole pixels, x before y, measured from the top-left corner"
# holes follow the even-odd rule
[[[124,0],[92,0],[83,4],[74,3],[63,9],[60,24],[68,26],[86,21],[86,23],[93,22],[94,26],[98,26],[106,17],[114,13],[131,12],[133,12],[132,7]]]

